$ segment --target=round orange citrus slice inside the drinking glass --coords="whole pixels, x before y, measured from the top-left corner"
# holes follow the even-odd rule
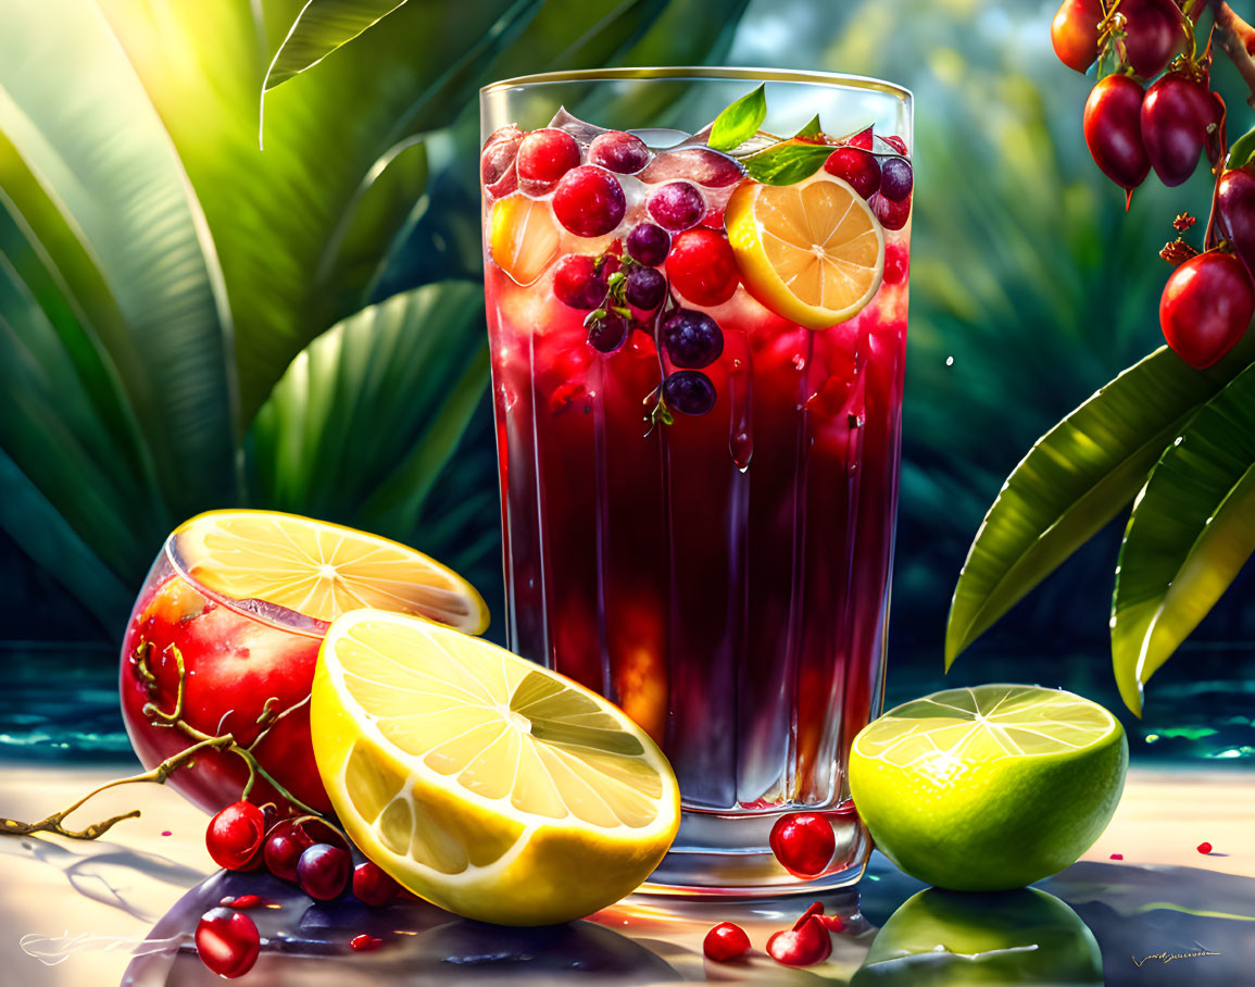
[[[857,315],[885,274],[885,230],[853,188],[822,168],[796,185],[744,182],[724,212],[749,293],[807,329]]]

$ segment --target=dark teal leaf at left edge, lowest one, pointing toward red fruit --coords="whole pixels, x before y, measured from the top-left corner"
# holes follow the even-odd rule
[[[0,527],[110,634],[122,627],[131,610],[132,591],[3,450]]]

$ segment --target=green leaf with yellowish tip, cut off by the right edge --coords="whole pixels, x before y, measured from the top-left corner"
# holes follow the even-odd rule
[[[1207,615],[1255,550],[1255,364],[1204,404],[1137,496],[1116,566],[1112,661],[1142,687]]]

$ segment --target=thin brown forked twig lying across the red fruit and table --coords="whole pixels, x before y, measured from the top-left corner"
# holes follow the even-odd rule
[[[136,654],[134,654],[136,671],[139,678],[142,678],[147,683],[149,692],[156,692],[157,689],[157,677],[148,667],[148,659],[152,657],[152,653],[154,650],[156,648],[151,642],[141,640],[139,645],[136,648]],[[274,728],[275,723],[277,723],[284,717],[291,715],[296,709],[305,706],[305,703],[309,702],[309,697],[301,699],[295,706],[291,706],[287,709],[284,709],[279,713],[274,712],[274,708],[271,707],[272,701],[267,699],[262,707],[261,716],[259,716],[256,721],[265,728],[254,738],[254,741],[247,747],[245,747],[236,740],[235,735],[231,732],[221,733],[218,736],[211,736],[201,730],[197,730],[186,720],[183,720],[183,686],[187,674],[183,667],[183,655],[178,650],[178,648],[176,648],[173,644],[168,645],[167,650],[169,652],[171,658],[173,658],[174,667],[178,671],[178,682],[174,696],[174,708],[167,713],[159,709],[156,703],[149,702],[144,704],[143,711],[148,717],[152,718],[154,726],[171,727],[173,730],[178,730],[179,732],[186,735],[190,740],[195,741],[192,746],[179,751],[176,755],[172,755],[171,757],[167,757],[164,761],[153,767],[151,771],[144,771],[139,775],[132,775],[131,777],[114,779],[113,781],[108,781],[100,787],[89,791],[87,795],[84,795],[73,805],[63,809],[59,812],[53,812],[50,816],[40,819],[35,822],[23,822],[16,819],[0,817],[0,834],[8,833],[15,836],[25,836],[33,833],[51,833],[58,836],[68,836],[69,839],[73,840],[94,840],[98,836],[102,836],[109,829],[112,829],[115,824],[122,822],[125,819],[138,819],[141,815],[139,810],[132,809],[129,812],[123,812],[122,815],[112,816],[110,819],[105,819],[100,822],[93,822],[90,826],[85,826],[84,829],[80,830],[67,829],[67,826],[64,825],[65,817],[72,812],[74,812],[75,810],[78,810],[84,802],[99,795],[102,791],[107,791],[108,789],[115,789],[119,785],[133,785],[138,782],[152,782],[156,785],[164,785],[166,780],[172,774],[174,774],[174,771],[177,771],[181,767],[191,766],[195,762],[196,756],[203,751],[225,751],[227,753],[233,753],[243,760],[245,766],[248,769],[248,780],[245,782],[243,791],[241,791],[240,794],[241,799],[248,797],[248,794],[252,791],[254,784],[260,776],[265,779],[275,789],[275,791],[279,792],[279,795],[284,797],[289,802],[289,805],[291,805],[294,809],[305,814],[306,817],[318,819],[321,822],[331,826],[329,820],[321,812],[319,812],[316,809],[311,809],[300,799],[297,799],[295,795],[292,795],[290,791],[287,791],[287,789],[280,785],[275,780],[275,777],[257,762],[257,757],[254,753],[257,745]],[[331,826],[331,829],[336,828]],[[336,831],[339,830],[336,829]]]

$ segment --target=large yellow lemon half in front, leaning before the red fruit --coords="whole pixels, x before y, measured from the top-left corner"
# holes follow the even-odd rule
[[[417,618],[355,610],[331,624],[310,726],[354,843],[467,918],[596,912],[649,876],[679,828],[675,775],[620,709]]]

